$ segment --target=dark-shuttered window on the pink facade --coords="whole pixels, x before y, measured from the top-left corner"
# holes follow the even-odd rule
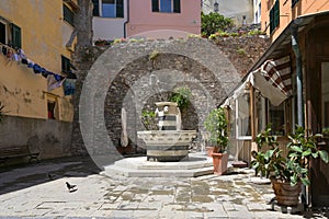
[[[152,0],[152,12],[181,13],[181,1]]]

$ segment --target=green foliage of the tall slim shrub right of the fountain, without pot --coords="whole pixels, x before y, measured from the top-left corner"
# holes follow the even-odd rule
[[[204,122],[204,126],[209,131],[209,141],[215,147],[214,152],[224,153],[227,151],[227,118],[223,107],[214,108]]]

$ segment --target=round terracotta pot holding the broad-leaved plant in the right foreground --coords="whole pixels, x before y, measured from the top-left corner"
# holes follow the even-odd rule
[[[300,183],[292,186],[291,183],[283,183],[277,180],[272,181],[276,201],[281,206],[297,206],[299,203],[299,194],[302,192]]]

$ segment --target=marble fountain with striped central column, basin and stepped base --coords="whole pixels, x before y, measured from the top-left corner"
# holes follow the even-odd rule
[[[125,158],[104,166],[110,176],[192,177],[213,174],[213,161],[204,153],[190,153],[189,147],[196,130],[181,130],[177,103],[156,103],[158,130],[137,131],[146,145],[146,157]]]

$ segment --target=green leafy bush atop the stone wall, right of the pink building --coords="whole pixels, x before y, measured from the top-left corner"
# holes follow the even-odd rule
[[[231,19],[227,19],[224,15],[220,15],[219,13],[201,13],[201,32],[206,36],[215,34],[219,30],[226,31],[231,25]]]

